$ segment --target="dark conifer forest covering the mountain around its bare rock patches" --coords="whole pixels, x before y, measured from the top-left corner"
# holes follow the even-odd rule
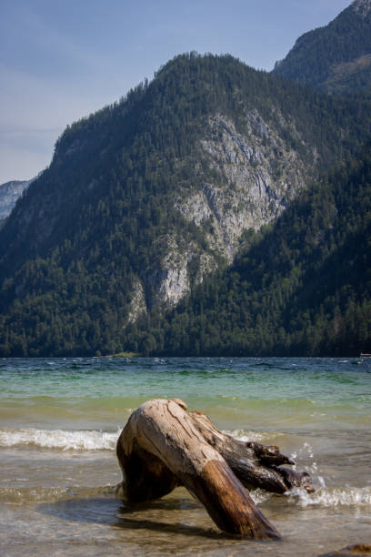
[[[231,56],[190,54],[68,127],[0,231],[0,355],[371,349],[370,158],[359,155],[370,108],[366,96],[332,99]],[[213,252],[175,209],[221,181],[199,148],[209,117],[243,133],[252,109],[300,154],[312,186],[275,224],[246,230],[232,268],[219,257],[180,305],[151,304],[164,238]],[[146,311],[132,319],[138,280]]]

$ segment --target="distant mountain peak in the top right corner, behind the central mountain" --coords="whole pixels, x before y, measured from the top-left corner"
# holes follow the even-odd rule
[[[331,23],[300,36],[273,73],[331,94],[371,88],[371,0],[355,0]]]

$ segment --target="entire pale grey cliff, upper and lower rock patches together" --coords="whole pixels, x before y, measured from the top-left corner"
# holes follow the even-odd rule
[[[306,147],[293,123],[282,117],[281,125]],[[316,163],[316,150],[306,148]],[[162,239],[167,254],[146,279],[151,307],[175,305],[217,268],[218,258],[231,263],[244,231],[276,219],[306,187],[303,160],[257,110],[247,113],[243,133],[229,117],[211,116],[199,149],[217,180],[200,179],[189,195],[175,199],[175,209],[205,236],[206,249],[184,238]]]

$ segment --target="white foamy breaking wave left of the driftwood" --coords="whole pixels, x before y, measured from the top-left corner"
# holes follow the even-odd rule
[[[62,451],[114,451],[119,431],[0,430],[0,447],[35,445]]]

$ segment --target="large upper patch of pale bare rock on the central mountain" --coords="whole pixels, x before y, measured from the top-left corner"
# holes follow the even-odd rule
[[[231,262],[244,230],[269,223],[306,186],[305,165],[256,110],[247,114],[244,133],[228,117],[212,116],[201,148],[218,183],[203,183],[179,201],[178,210],[204,228],[210,247]]]

